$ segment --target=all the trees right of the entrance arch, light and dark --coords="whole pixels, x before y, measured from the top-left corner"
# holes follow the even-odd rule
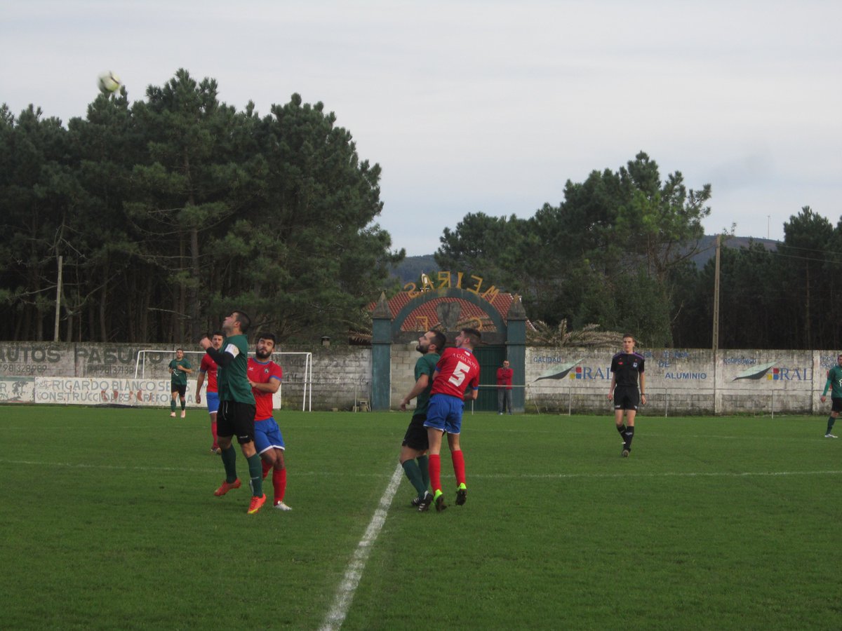
[[[715,258],[692,258],[710,215],[711,185],[662,180],[641,152],[616,171],[568,180],[561,204],[520,219],[482,212],[445,229],[435,260],[520,294],[531,319],[584,330],[628,331],[647,347],[710,348]],[[728,247],[719,273],[721,348],[838,348],[842,222],[805,206],[770,250]]]

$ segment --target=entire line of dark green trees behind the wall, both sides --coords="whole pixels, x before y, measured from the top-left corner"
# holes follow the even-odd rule
[[[67,127],[0,107],[0,339],[57,321],[66,342],[188,343],[235,308],[284,342],[365,331],[404,252],[376,223],[380,166],[335,115],[298,94],[237,111],[185,70],[145,97],[99,96]],[[641,152],[527,219],[468,213],[435,261],[520,294],[547,331],[711,347],[714,260],[692,261],[710,200]],[[804,207],[784,235],[723,240],[720,347],[842,346],[842,223]]]

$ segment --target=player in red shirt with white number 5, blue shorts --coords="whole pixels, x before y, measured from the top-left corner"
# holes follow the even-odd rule
[[[480,332],[476,329],[462,329],[456,336],[456,347],[445,348],[439,362],[435,365],[433,389],[430,390],[427,408],[427,427],[429,439],[429,482],[433,488],[435,510],[443,511],[444,493],[441,490],[441,437],[447,432],[447,444],[450,447],[450,459],[456,474],[456,505],[461,506],[467,497],[465,484],[465,458],[459,445],[462,427],[462,410],[465,398],[476,399],[479,392],[479,362],[474,357],[473,349],[479,345]],[[470,391],[466,394],[466,390]],[[420,506],[419,506],[420,508]]]

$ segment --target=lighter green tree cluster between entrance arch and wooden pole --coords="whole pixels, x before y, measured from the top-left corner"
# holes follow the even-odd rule
[[[445,230],[436,260],[523,294],[527,312],[551,325],[596,322],[669,346],[674,277],[697,250],[710,197],[710,185],[688,190],[680,172],[662,182],[641,152],[616,172],[568,180],[562,204],[527,220],[467,215]]]

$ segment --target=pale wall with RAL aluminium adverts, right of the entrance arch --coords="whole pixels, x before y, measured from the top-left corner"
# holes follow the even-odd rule
[[[527,348],[526,408],[608,412],[613,353]],[[658,349],[646,358],[648,415],[812,414],[835,351]]]

